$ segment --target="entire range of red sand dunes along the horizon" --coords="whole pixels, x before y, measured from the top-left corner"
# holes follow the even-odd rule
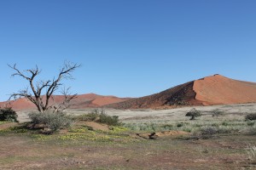
[[[64,96],[55,95],[55,103],[60,103]],[[51,103],[53,100],[50,101]],[[233,80],[221,75],[204,77],[186,82],[174,88],[166,89],[158,94],[142,98],[118,98],[97,94],[82,94],[73,99],[71,108],[109,107],[114,109],[166,109],[177,106],[193,105],[229,105],[256,103],[256,83]],[[6,102],[0,102],[5,105]],[[27,99],[11,102],[15,110],[35,109]]]

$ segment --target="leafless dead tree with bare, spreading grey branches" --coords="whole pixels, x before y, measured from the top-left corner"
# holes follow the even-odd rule
[[[30,90],[29,88],[25,88],[23,90],[20,90],[18,93],[11,94],[9,99],[17,99],[20,97],[29,99],[34,105],[37,106],[38,111],[41,113],[44,113],[45,111],[49,111],[51,109],[53,109],[54,112],[63,111],[70,106],[70,101],[76,98],[77,94],[71,95],[68,93],[69,88],[64,88],[64,90],[62,90],[61,92],[64,95],[64,100],[61,104],[58,105],[55,103],[53,94],[63,85],[61,83],[61,80],[73,79],[71,73],[80,66],[81,65],[73,64],[71,62],[65,62],[56,78],[54,77],[52,80],[40,80],[36,82],[35,78],[38,77],[41,72],[38,69],[38,65],[36,65],[36,68],[26,71],[20,71],[16,67],[16,64],[9,65],[9,67],[15,71],[12,76],[18,76],[26,79],[29,82],[28,87],[30,88]],[[42,91],[44,90],[46,93],[42,95]],[[50,99],[53,100],[53,103],[51,105],[49,104]]]

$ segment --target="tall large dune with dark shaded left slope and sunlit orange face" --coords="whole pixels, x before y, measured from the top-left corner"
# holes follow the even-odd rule
[[[256,102],[256,83],[220,75],[204,77],[125,102],[108,105],[115,109],[163,109],[177,105],[224,105]]]

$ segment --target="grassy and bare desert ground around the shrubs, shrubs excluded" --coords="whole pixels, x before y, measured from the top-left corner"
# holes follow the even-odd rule
[[[127,127],[113,127],[109,132],[90,131],[81,123],[54,135],[19,127],[2,129],[1,169],[255,169],[255,123],[244,120],[255,108],[253,104],[197,107],[203,115],[195,121],[185,116],[191,108],[109,110],[108,115],[119,116]],[[212,117],[216,109],[223,114]],[[75,115],[86,112],[69,111]],[[26,120],[25,111],[20,115],[20,120]],[[165,136],[148,140],[134,135],[162,129],[190,131],[194,135],[205,127],[230,133],[214,133],[207,139]]]

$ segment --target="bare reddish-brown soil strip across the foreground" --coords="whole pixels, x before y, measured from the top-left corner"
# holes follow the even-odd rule
[[[30,136],[0,136],[1,169],[255,169],[248,159],[247,144],[253,135],[216,139],[156,139],[135,143],[53,140],[35,141]],[[247,142],[245,142],[247,141]]]

